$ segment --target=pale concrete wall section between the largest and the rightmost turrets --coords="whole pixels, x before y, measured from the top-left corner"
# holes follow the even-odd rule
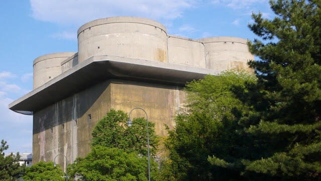
[[[169,63],[206,68],[202,42],[170,35],[168,38]]]

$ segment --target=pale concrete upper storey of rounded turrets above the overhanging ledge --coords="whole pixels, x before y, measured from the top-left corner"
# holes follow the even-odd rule
[[[78,30],[78,53],[54,53],[34,62],[34,89],[93,56],[120,56],[217,71],[246,69],[254,60],[247,40],[212,37],[199,40],[167,35],[161,23],[136,17],[91,21]],[[60,70],[61,69],[61,70]],[[49,78],[50,77],[50,78]]]

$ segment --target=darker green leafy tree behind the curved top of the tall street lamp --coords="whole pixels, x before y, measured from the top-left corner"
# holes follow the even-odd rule
[[[147,127],[144,118],[134,118],[133,124],[127,127],[128,115],[123,111],[110,110],[100,120],[92,132],[92,146],[101,145],[108,148],[124,149],[147,155]],[[155,124],[148,123],[150,153],[155,154],[157,139],[154,131]]]

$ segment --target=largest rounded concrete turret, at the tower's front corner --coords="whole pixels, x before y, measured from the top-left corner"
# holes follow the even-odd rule
[[[161,23],[136,17],[91,21],[78,30],[79,63],[98,55],[167,62],[167,33]]]

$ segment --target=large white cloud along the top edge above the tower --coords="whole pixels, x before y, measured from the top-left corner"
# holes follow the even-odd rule
[[[98,18],[139,16],[171,20],[181,17],[185,9],[198,0],[30,0],[32,17],[64,25],[81,25]]]

